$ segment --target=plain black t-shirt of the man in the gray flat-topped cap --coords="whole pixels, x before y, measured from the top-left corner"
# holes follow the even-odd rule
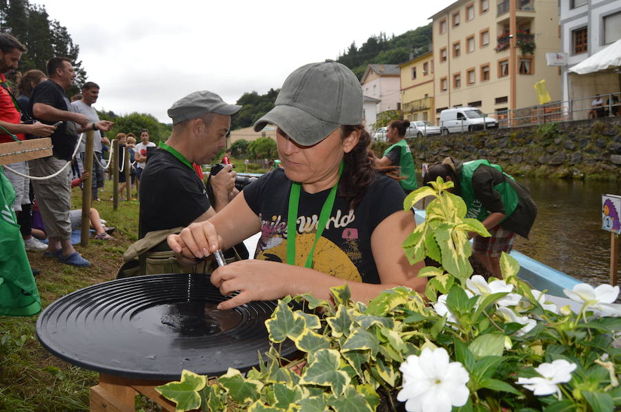
[[[190,167],[159,147],[140,177],[140,234],[187,226],[207,212],[203,181]]]

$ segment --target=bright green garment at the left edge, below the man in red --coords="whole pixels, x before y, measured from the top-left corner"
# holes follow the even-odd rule
[[[41,311],[12,204],[15,192],[0,168],[0,316],[32,316]]]

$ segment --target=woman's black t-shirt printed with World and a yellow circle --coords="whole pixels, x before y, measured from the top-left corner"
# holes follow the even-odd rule
[[[262,236],[255,258],[286,262],[287,213],[291,181],[278,168],[248,185],[242,192],[250,209],[261,219]],[[315,240],[317,220],[330,189],[316,194],[300,191],[295,262],[304,266]],[[384,175],[367,189],[353,210],[337,196],[313,256],[313,269],[346,280],[380,283],[371,251],[371,234],[382,220],[403,210],[404,192],[397,181]],[[401,247],[395,242],[395,247]]]

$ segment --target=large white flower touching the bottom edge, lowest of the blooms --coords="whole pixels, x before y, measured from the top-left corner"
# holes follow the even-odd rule
[[[406,411],[450,412],[452,406],[468,402],[468,372],[460,362],[449,361],[444,348],[425,348],[420,356],[408,356],[401,364],[403,389],[397,400],[406,402]]]

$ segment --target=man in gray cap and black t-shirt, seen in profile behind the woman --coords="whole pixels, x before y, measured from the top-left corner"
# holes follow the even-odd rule
[[[213,92],[200,91],[168,109],[172,134],[149,155],[140,180],[140,238],[149,231],[207,220],[237,194],[235,172],[226,165],[211,178],[215,197],[211,205],[193,164],[213,160],[224,147],[230,116],[241,108],[225,103]]]

